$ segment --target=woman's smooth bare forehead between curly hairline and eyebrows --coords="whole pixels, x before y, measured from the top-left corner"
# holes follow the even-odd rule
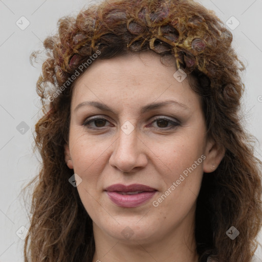
[[[195,94],[187,78],[179,82],[173,76],[177,72],[175,64],[173,56],[161,58],[154,51],[97,59],[77,79],[72,106],[91,97],[93,100],[110,97],[117,102],[125,99],[147,103],[176,96],[181,103],[190,104]]]

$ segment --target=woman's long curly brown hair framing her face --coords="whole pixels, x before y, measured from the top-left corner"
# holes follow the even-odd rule
[[[147,50],[174,56],[177,69],[194,79],[191,88],[201,96],[207,136],[225,150],[219,167],[203,174],[195,214],[199,262],[209,255],[220,262],[251,261],[262,220],[262,163],[243,127],[240,72],[245,66],[231,42],[231,32],[215,13],[192,0],[108,0],[59,19],[57,33],[43,42],[47,58],[36,84],[42,116],[35,125],[34,151],[41,166],[24,188],[33,186],[26,262],[92,262],[92,220],[69,183],[74,171],[64,161],[78,77],[72,76],[92,67],[88,59]],[[226,234],[231,226],[239,231],[234,240]]]

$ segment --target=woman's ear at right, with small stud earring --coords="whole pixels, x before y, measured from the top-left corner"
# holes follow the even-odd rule
[[[225,156],[225,148],[219,149],[215,141],[210,138],[206,144],[205,156],[203,170],[205,173],[213,172]]]

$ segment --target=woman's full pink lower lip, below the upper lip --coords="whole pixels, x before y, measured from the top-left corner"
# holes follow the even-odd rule
[[[151,199],[157,191],[143,192],[138,194],[119,194],[108,192],[107,195],[113,203],[119,207],[138,207]]]

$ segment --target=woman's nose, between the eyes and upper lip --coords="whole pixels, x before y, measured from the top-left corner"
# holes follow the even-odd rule
[[[128,135],[120,129],[119,137],[113,146],[109,160],[111,166],[122,172],[135,172],[146,166],[146,145],[138,137],[136,128]]]

